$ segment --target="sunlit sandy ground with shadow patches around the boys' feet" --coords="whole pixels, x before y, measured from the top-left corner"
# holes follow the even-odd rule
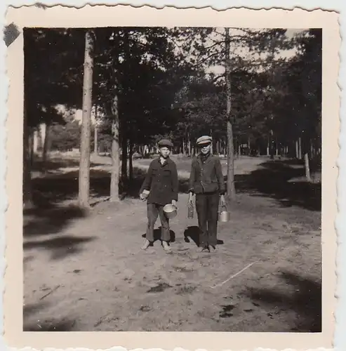
[[[320,331],[320,211],[239,192],[218,252],[197,253],[187,194],[178,204],[171,254],[140,251],[138,199],[25,216],[24,329]]]

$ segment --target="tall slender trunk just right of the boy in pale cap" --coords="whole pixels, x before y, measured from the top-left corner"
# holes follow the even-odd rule
[[[231,62],[229,60],[229,28],[225,28],[225,75],[227,94],[227,198],[235,201],[236,191],[234,187],[234,145],[232,126],[232,100],[231,100]]]

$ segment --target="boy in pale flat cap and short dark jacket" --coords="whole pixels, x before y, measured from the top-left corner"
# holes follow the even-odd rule
[[[199,251],[215,251],[217,244],[218,206],[225,205],[225,182],[220,159],[211,154],[212,138],[204,135],[197,139],[199,156],[192,159],[189,176],[189,206],[196,194],[199,222]]]

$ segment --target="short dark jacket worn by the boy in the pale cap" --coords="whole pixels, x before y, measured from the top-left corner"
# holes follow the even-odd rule
[[[189,176],[189,192],[195,194],[225,194],[225,180],[222,175],[221,162],[210,154],[205,160],[201,156],[192,159]]]

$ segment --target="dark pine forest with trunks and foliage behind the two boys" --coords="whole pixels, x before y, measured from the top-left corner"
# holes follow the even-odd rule
[[[321,161],[321,29],[288,37],[286,29],[26,28],[24,39],[25,204],[34,154],[44,164],[50,150],[80,148],[81,206],[91,150],[111,154],[111,201],[131,182],[133,154],[153,152],[162,137],[191,155],[201,134],[212,135],[213,152],[227,155],[229,201],[234,155],[244,149],[304,159],[308,180],[310,162]]]

